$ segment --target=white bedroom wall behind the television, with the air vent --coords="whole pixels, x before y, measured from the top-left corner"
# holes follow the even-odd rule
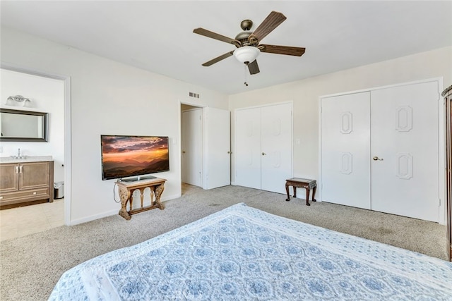
[[[117,214],[102,181],[100,135],[165,135],[170,171],[162,200],[181,195],[180,102],[227,109],[227,96],[39,37],[1,28],[1,61],[71,77],[71,224]],[[189,97],[189,91],[201,94]],[[65,198],[67,196],[65,195]]]

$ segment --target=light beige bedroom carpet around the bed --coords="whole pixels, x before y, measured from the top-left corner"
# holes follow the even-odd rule
[[[326,202],[307,207],[302,199],[285,202],[285,195],[240,186],[183,188],[182,197],[165,202],[165,210],[145,211],[133,215],[130,221],[114,215],[1,242],[0,299],[47,300],[61,274],[73,266],[239,202],[289,219],[447,258],[446,226],[438,223]]]

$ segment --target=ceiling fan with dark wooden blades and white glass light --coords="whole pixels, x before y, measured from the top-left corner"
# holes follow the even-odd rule
[[[302,47],[259,44],[264,37],[278,27],[278,25],[283,23],[285,19],[286,17],[283,13],[272,11],[267,18],[263,20],[261,25],[254,30],[254,32],[249,31],[253,26],[253,22],[251,20],[243,20],[242,23],[240,23],[240,27],[242,27],[242,30],[244,31],[240,32],[235,39],[219,35],[218,33],[205,30],[201,27],[194,29],[193,32],[198,35],[218,39],[222,42],[234,44],[234,46],[237,47],[234,51],[229,51],[216,57],[215,59],[211,59],[210,61],[203,63],[203,66],[213,65],[214,63],[218,63],[219,61],[234,55],[238,61],[248,66],[250,74],[256,74],[259,73],[259,66],[256,58],[259,54],[261,54],[261,52],[267,52],[269,54],[286,54],[289,56],[302,56],[305,50]]]

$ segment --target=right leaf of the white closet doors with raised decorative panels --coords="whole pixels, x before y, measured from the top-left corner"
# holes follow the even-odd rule
[[[371,92],[373,210],[439,221],[437,82]]]

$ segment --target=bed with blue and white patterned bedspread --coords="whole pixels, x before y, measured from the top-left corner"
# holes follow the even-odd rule
[[[241,203],[73,267],[49,300],[452,300],[452,263]]]

